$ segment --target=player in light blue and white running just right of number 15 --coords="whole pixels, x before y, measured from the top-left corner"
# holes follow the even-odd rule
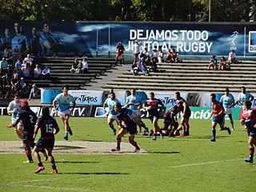
[[[65,136],[64,139],[68,140],[68,134],[73,135],[73,132],[70,127],[69,119],[71,114],[73,113],[75,106],[75,98],[68,93],[70,90],[70,86],[62,86],[62,94],[58,94],[53,101],[55,114],[62,118],[62,122],[65,128]],[[73,106],[70,110],[70,102],[72,102]],[[57,108],[58,105],[58,108]]]

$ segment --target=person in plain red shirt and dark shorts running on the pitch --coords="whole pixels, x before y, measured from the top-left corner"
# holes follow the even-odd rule
[[[221,130],[226,130],[228,134],[231,134],[230,127],[224,126],[225,110],[221,102],[216,100],[216,94],[210,94],[211,109],[210,118],[212,118],[212,138],[211,142],[216,142],[216,126],[219,125]]]

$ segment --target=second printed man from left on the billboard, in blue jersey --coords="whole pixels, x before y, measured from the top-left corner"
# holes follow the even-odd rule
[[[18,49],[18,58],[21,58],[30,50],[29,41],[26,36],[22,34],[22,26],[19,25],[18,22],[14,23],[14,30],[16,35],[11,40],[11,48],[14,52],[14,49]]]

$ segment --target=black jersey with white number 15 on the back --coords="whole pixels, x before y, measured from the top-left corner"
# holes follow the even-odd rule
[[[54,138],[54,128],[58,127],[58,124],[52,117],[42,117],[38,118],[36,126],[41,130],[41,138]]]

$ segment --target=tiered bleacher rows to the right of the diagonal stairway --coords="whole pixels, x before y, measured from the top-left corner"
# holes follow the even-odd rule
[[[102,89],[114,90],[162,90],[186,92],[223,92],[256,90],[256,62],[239,62],[231,65],[231,70],[207,70],[208,61],[183,61],[180,63],[158,63],[156,73],[150,76],[140,73],[133,75],[129,70],[123,71]]]

